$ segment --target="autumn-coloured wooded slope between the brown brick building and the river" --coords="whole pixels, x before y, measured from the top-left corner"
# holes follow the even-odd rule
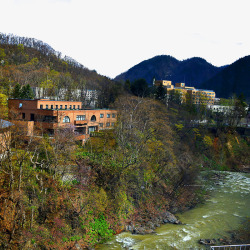
[[[196,185],[201,170],[248,165],[249,146],[231,128],[190,126],[210,116],[201,108],[135,96],[114,107],[114,130],[84,146],[70,130],[25,140],[23,129],[11,127],[0,161],[1,248],[74,249],[125,229],[152,233],[179,223],[169,211],[204,199]]]

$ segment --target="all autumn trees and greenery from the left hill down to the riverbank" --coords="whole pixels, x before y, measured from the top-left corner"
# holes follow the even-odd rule
[[[16,38],[1,45],[0,118],[7,118],[8,97],[31,98],[31,82],[55,95],[54,89],[86,87],[88,81],[100,91],[99,106],[115,108],[119,116],[113,130],[96,132],[84,146],[67,129],[53,138],[27,137],[11,126],[9,143],[0,128],[6,142],[0,248],[92,247],[131,222],[202,201],[203,190],[194,185],[202,169],[241,170],[248,164],[248,142],[236,132],[246,110],[243,98],[235,99],[234,113],[213,114],[179,93],[166,99],[162,86],[148,88],[140,79],[122,88],[39,41],[21,42],[26,46]]]

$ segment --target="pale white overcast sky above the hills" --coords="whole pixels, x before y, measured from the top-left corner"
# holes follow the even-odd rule
[[[143,60],[250,53],[250,0],[0,0],[0,32],[36,38],[114,78]]]

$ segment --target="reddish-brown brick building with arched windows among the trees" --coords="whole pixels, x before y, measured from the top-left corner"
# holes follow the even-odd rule
[[[117,111],[82,109],[81,102],[52,101],[49,99],[9,99],[9,118],[25,126],[27,135],[48,133],[53,136],[60,128],[71,128],[77,140],[87,140],[91,132],[113,128]]]

